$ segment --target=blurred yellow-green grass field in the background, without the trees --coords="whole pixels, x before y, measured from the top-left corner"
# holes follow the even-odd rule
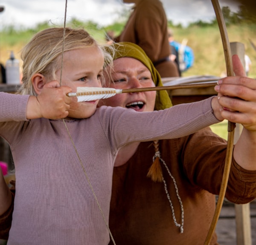
[[[104,31],[108,27],[96,29],[86,23],[72,23],[73,27],[83,26],[99,43],[104,43]],[[12,30],[0,32],[0,62],[5,64],[13,50],[19,58],[20,49],[31,39],[37,31],[49,26],[42,24],[37,30]],[[194,66],[183,73],[183,77],[192,75],[221,76],[226,71],[224,51],[218,26],[188,28],[172,28],[175,39],[182,42],[188,40],[195,54]],[[256,78],[256,50],[250,40],[256,45],[256,24],[233,25],[227,27],[230,42],[240,42],[245,46],[245,52],[252,61],[249,77]],[[21,62],[20,62],[21,63]]]

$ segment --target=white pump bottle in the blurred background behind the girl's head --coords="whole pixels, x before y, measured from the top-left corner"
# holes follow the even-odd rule
[[[19,60],[15,59],[13,51],[9,60],[6,61],[6,83],[20,84],[20,64]]]

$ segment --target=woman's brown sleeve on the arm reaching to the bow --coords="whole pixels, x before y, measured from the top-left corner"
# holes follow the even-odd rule
[[[183,168],[192,185],[219,194],[224,171],[227,142],[209,129],[188,137],[183,149]],[[256,171],[247,171],[232,159],[225,197],[243,204],[256,198]]]

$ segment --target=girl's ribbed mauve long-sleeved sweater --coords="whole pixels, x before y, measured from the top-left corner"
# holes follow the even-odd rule
[[[29,96],[0,93],[0,136],[12,150],[16,194],[8,245],[106,245],[108,229],[62,120],[26,120]],[[211,100],[162,111],[103,106],[65,120],[108,223],[113,164],[127,142],[177,138],[218,122]]]

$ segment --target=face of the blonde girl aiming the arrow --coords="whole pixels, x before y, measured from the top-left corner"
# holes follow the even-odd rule
[[[104,55],[97,46],[75,49],[64,53],[61,85],[72,88],[76,92],[77,87],[102,87]],[[60,78],[61,71],[57,71]],[[69,117],[87,118],[96,111],[99,100],[77,102],[72,97]]]

